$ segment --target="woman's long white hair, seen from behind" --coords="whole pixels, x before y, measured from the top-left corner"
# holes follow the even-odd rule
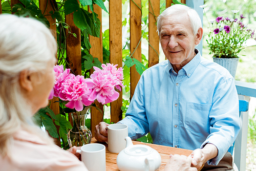
[[[0,23],[0,155],[5,156],[18,129],[39,130],[21,93],[19,74],[24,70],[44,73],[57,44],[50,29],[38,20],[1,14]],[[49,138],[45,140],[50,143]]]

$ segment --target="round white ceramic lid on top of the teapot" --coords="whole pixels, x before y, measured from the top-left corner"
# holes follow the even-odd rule
[[[147,145],[132,145],[124,148],[124,153],[130,156],[145,156],[152,153],[152,148]]]

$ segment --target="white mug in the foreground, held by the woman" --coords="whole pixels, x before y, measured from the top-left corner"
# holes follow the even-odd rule
[[[85,144],[76,152],[81,154],[82,162],[89,171],[106,170],[105,145],[98,143]]]

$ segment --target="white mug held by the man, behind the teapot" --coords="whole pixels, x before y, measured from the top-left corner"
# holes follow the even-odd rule
[[[110,124],[108,126],[109,151],[112,153],[121,152],[125,146],[125,137],[128,136],[128,126],[125,124]]]

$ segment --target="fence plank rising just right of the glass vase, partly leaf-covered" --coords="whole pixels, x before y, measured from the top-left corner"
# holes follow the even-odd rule
[[[101,25],[101,15],[102,11],[101,8],[98,5],[94,5],[94,12],[98,14],[98,18],[100,19],[100,37],[94,37],[89,35],[89,41],[92,45],[92,48],[90,49],[90,54],[93,57],[97,57],[99,61],[102,63],[103,62],[103,51],[102,51],[102,25]],[[88,7],[88,10],[91,12],[90,8]],[[93,73],[93,69],[91,69],[90,73]],[[98,106],[99,109],[104,112],[103,105],[99,102],[96,102],[96,105]],[[96,109],[96,108],[91,108],[91,131],[92,135],[94,136],[94,130],[95,126],[99,124],[103,120],[103,115]]]

